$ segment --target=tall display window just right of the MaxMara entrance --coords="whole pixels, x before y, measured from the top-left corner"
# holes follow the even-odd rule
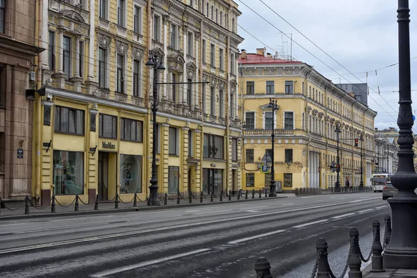
[[[120,193],[142,193],[142,156],[120,154]]]

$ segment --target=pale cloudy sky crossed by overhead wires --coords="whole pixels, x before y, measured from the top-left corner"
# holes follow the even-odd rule
[[[278,51],[281,55],[290,55],[291,39],[282,33],[287,33],[288,37],[291,37],[289,34],[292,33],[293,57],[313,65],[318,72],[332,79],[334,83],[364,83],[366,72],[368,72],[370,91],[368,104],[370,108],[378,112],[375,127],[379,129],[389,126],[397,127],[398,92],[393,92],[398,91],[398,65],[393,65],[398,63],[397,1],[235,1],[243,13],[238,19],[240,35],[245,38],[245,41],[240,44],[240,49],[255,52],[256,48],[266,47],[267,51],[272,54]],[[261,1],[316,43],[354,76],[306,40]],[[245,5],[265,17],[274,26],[265,22]],[[410,10],[411,58],[414,58],[417,56],[416,1],[410,1]],[[387,67],[389,65],[393,66]],[[416,110],[414,114],[417,116],[417,77],[413,71],[416,66],[417,57],[411,59],[411,90],[416,89],[416,92],[412,92],[413,111]],[[416,124],[414,133],[417,133]]]

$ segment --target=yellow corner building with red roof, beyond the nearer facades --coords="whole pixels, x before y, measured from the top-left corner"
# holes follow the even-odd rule
[[[374,119],[377,113],[325,79],[313,67],[257,49],[239,58],[243,133],[243,188],[269,188],[272,122],[275,129],[275,181],[284,191],[334,186],[339,125],[341,185],[359,186],[363,136],[363,182],[375,167]],[[270,98],[279,106],[268,108]],[[273,121],[272,121],[273,120]]]

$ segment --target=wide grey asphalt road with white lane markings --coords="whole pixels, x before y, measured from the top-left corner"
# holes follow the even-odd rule
[[[338,276],[350,227],[368,253],[389,212],[381,193],[353,193],[0,221],[0,277],[255,277],[265,256],[274,277],[304,278],[320,237]]]

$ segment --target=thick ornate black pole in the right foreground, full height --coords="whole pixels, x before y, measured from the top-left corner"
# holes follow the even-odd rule
[[[391,182],[398,193],[388,200],[392,212],[392,234],[384,250],[384,268],[415,269],[417,265],[417,174],[413,163],[413,113],[411,110],[409,1],[398,0],[399,99],[397,124],[400,128],[398,171]]]

